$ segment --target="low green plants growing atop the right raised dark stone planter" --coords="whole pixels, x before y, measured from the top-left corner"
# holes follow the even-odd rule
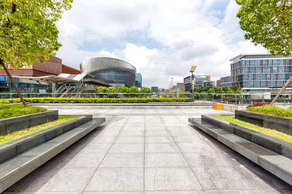
[[[273,116],[292,118],[292,109],[282,109],[282,108],[270,106],[270,105],[251,107],[251,108],[248,108],[247,111],[262,113],[262,114],[269,114]]]

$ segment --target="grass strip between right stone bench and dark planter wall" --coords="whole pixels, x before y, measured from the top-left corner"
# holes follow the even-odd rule
[[[287,135],[285,133],[281,133],[273,129],[262,128],[244,121],[240,121],[236,119],[235,116],[214,116],[214,117],[292,143],[291,135]]]

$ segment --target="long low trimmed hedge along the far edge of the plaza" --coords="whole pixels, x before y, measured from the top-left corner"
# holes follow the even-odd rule
[[[148,102],[191,102],[192,98],[71,98],[71,97],[31,97],[24,98],[32,103],[148,103]],[[18,103],[19,98],[0,99],[0,103]]]

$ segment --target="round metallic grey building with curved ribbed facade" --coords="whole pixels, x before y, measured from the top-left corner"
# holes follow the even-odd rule
[[[80,64],[81,73],[91,74],[93,78],[86,81],[97,81],[114,87],[132,87],[135,84],[136,68],[119,59],[97,57],[83,61]]]

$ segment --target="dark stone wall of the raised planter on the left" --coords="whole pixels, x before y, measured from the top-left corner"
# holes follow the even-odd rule
[[[48,111],[45,113],[28,114],[24,116],[0,119],[0,135],[30,128],[39,124],[55,121],[58,119],[58,111]]]

